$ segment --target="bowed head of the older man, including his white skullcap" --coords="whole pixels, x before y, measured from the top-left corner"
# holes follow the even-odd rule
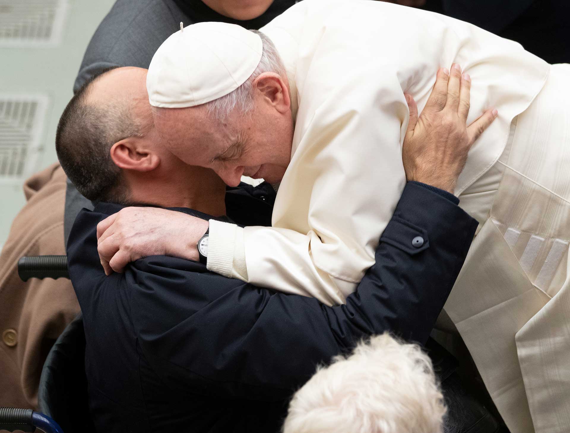
[[[234,52],[230,52],[223,55],[228,50],[225,40],[221,39],[216,46],[211,42],[215,38],[207,39],[207,26],[214,27],[212,31],[217,32],[218,27],[231,24],[207,23],[207,26],[194,26],[188,29],[198,31],[206,28],[206,48],[196,48],[196,57],[199,59],[178,59],[178,54],[188,44],[194,43],[194,38],[190,38],[189,34],[187,40],[183,39],[184,31],[189,31],[184,29],[178,35],[171,36],[172,39],[166,40],[150,64],[147,88],[150,102],[155,105],[152,112],[158,133],[170,151],[186,164],[211,168],[228,185],[238,185],[242,175],[264,178],[269,182],[280,181],[290,162],[294,126],[287,74],[274,44],[260,32],[254,31],[258,36],[253,36],[250,31],[227,27],[228,31],[236,32],[237,38],[245,40],[245,48],[238,44],[241,54],[234,56]],[[222,31],[226,30],[221,28]],[[255,39],[251,40],[252,37]],[[257,51],[250,50],[250,46],[259,40],[262,50],[258,54]],[[200,55],[202,52],[205,55]],[[217,64],[219,58],[227,59],[231,56],[234,58],[226,60],[223,66]],[[245,77],[241,59],[243,63],[255,62]],[[167,62],[168,68],[164,66]],[[183,92],[184,97],[191,99],[194,94],[205,94],[205,98],[196,97],[198,102],[206,99],[205,103],[196,104],[190,100],[177,104],[178,101],[174,99],[178,95],[173,91],[172,85],[168,87],[164,84],[173,75],[172,68],[185,71],[184,75],[174,73],[182,86],[188,87],[188,92]],[[187,79],[189,82],[184,81],[187,68],[193,68]],[[226,69],[229,70],[227,74],[224,72]],[[218,92],[213,86],[222,80],[212,80],[210,73],[226,74],[222,79],[227,79],[231,90],[215,99],[208,97],[210,88],[211,92]],[[243,77],[237,87],[234,85],[235,75]],[[170,97],[170,94],[173,96]],[[154,95],[161,98],[158,103],[154,103]],[[173,105],[182,108],[172,108]]]

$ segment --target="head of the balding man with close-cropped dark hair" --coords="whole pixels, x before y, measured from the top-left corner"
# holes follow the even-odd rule
[[[225,188],[213,171],[184,164],[162,144],[146,73],[131,67],[103,71],[68,103],[56,133],[68,178],[92,201],[190,207],[193,197],[209,194],[223,202]]]

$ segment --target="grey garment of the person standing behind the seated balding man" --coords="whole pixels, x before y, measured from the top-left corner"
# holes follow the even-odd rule
[[[148,68],[154,52],[180,28],[181,21],[190,24],[188,16],[172,0],[117,0],[87,46],[74,93],[90,77],[108,67]],[[93,209],[91,201],[68,180],[64,214],[66,245],[75,217],[84,207]]]

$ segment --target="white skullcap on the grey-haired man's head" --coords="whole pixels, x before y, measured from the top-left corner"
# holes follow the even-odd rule
[[[146,89],[153,107],[205,104],[237,89],[259,64],[259,35],[235,24],[192,24],[170,35],[154,54]]]

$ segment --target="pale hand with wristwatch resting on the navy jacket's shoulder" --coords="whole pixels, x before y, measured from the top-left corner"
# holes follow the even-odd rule
[[[198,260],[206,220],[156,207],[125,207],[97,224],[97,251],[105,274],[148,256]]]

